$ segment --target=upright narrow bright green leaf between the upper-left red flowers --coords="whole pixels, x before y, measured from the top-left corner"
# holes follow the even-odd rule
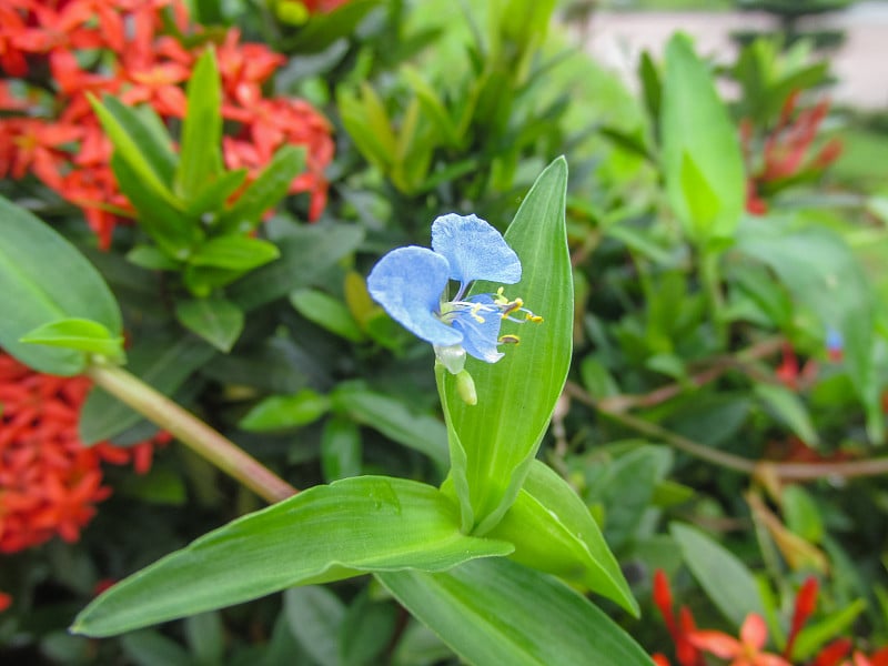
[[[188,82],[188,109],[182,122],[182,149],[175,170],[175,192],[185,201],[222,171],[222,91],[215,51],[206,49]]]

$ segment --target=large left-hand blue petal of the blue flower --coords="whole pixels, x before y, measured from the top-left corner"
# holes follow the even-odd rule
[[[383,256],[367,276],[367,291],[393,320],[426,342],[460,344],[462,333],[434,314],[447,286],[447,260],[427,248],[398,248]]]

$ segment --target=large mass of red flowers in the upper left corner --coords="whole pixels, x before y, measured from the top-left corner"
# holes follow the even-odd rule
[[[321,4],[330,4],[321,3]],[[175,33],[175,34],[174,34]],[[189,43],[209,33],[189,24],[181,0],[4,0],[0,6],[0,178],[32,173],[84,210],[107,248],[121,215],[131,216],[110,169],[111,144],[87,93],[150,104],[164,120],[185,113],[183,83],[200,56]],[[326,203],[325,167],[333,158],[327,121],[307,103],[265,99],[261,87],[284,62],[236,29],[218,44],[229,167],[251,176],[287,143],[305,145],[307,170],[291,192],[310,192],[310,219]],[[46,78],[49,72],[49,80]],[[2,72],[0,72],[2,73]]]

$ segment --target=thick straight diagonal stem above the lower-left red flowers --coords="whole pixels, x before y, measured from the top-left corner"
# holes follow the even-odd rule
[[[122,367],[94,363],[85,375],[269,502],[280,502],[299,492],[191,412]]]

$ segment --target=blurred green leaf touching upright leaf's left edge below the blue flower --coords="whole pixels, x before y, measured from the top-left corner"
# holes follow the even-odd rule
[[[424,453],[442,466],[447,464],[447,430],[427,414],[413,414],[394,397],[366,389],[343,385],[330,396],[340,414]]]

